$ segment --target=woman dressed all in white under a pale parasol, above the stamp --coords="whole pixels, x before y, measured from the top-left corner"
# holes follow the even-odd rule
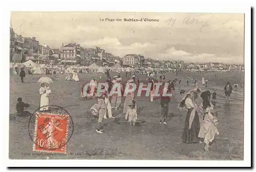
[[[49,83],[53,83],[53,81],[49,77],[41,77],[37,82],[41,83],[41,88],[39,89],[39,94],[41,95],[39,111],[48,111],[49,95],[51,93]]]

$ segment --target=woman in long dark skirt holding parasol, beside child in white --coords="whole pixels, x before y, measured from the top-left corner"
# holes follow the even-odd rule
[[[200,120],[198,116],[198,106],[195,100],[198,98],[200,89],[194,88],[190,90],[185,97],[180,101],[178,108],[180,110],[187,109],[185,125],[182,133],[183,143],[198,143]]]

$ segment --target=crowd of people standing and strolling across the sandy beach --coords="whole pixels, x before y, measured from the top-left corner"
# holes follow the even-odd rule
[[[126,75],[129,73],[126,73]],[[136,83],[139,84],[139,79],[136,80],[135,73],[130,73],[130,78],[125,83]],[[155,83],[157,82],[167,82],[168,87],[163,88],[163,92],[174,93],[177,84],[181,83],[181,79],[174,79],[165,81],[164,73],[161,73],[159,79],[155,77],[155,73],[147,73],[148,83],[151,83],[150,88],[150,102],[154,102],[154,93],[156,89]],[[23,70],[21,70],[19,74],[22,79],[26,77],[26,74]],[[108,90],[104,90],[104,85],[101,86],[100,95],[97,96],[97,88],[98,82],[95,77],[90,81],[89,87],[86,88],[85,85],[81,87],[81,98],[82,99],[94,99],[96,103],[91,107],[90,112],[92,115],[97,118],[97,128],[96,132],[102,134],[103,133],[103,125],[102,121],[106,118],[115,118],[113,114],[113,110],[121,110],[125,120],[130,123],[131,126],[135,126],[136,121],[138,120],[137,114],[137,102],[135,99],[135,92],[129,92],[125,96],[123,101],[122,95],[125,92],[124,86],[121,83],[123,80],[120,76],[120,72],[117,73],[113,79],[110,76],[110,71],[106,71],[107,80],[105,81],[108,84]],[[76,71],[74,71],[74,75],[67,76],[70,78],[66,78],[66,80],[79,80]],[[77,78],[76,78],[77,77]],[[188,80],[186,81],[187,85],[189,84]],[[202,78],[202,86],[207,87],[208,80],[207,78]],[[113,85],[120,84],[121,95],[114,93],[110,95]],[[186,109],[187,115],[185,118],[184,129],[182,133],[182,142],[184,143],[204,143],[204,150],[208,151],[209,147],[212,144],[212,141],[215,138],[215,135],[219,134],[217,130],[218,118],[217,113],[215,111],[215,105],[210,100],[215,101],[217,99],[217,89],[214,92],[210,93],[210,91],[202,92],[202,90],[198,87],[198,78],[195,79],[194,89],[190,90],[186,93],[184,89],[180,89],[180,95],[184,95],[182,100],[179,102],[178,108],[180,110]],[[234,83],[234,88],[238,87],[238,83]],[[129,88],[132,89],[132,88]],[[226,95],[226,101],[230,101],[230,95],[232,93],[233,87],[230,82],[224,87],[224,93]],[[117,89],[115,90],[117,91]],[[161,91],[160,91],[161,92]],[[40,94],[40,106],[39,111],[48,111],[49,110],[49,95],[51,94],[51,90],[48,83],[41,83],[41,87],[39,89]],[[186,94],[185,94],[186,93]],[[200,96],[199,96],[200,95]],[[201,97],[203,100],[202,104],[198,105],[196,100]],[[160,124],[167,124],[166,118],[169,111],[169,103],[171,97],[160,94],[160,106],[161,106],[161,115],[160,115]],[[24,111],[29,104],[24,103],[22,98],[18,98],[18,103],[16,105],[17,115],[18,116],[26,116],[25,114],[29,114],[27,111]]]

